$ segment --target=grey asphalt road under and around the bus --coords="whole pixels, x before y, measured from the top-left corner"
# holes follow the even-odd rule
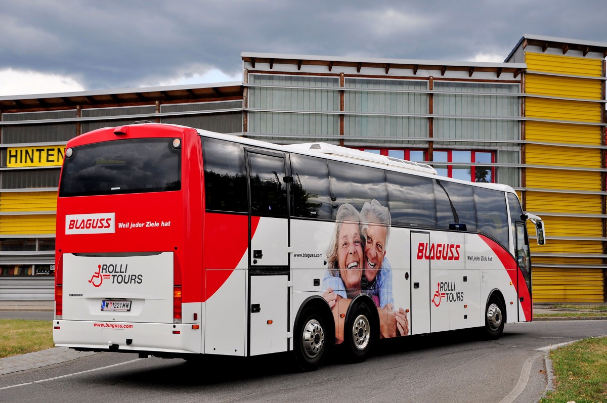
[[[0,401],[58,402],[535,402],[546,386],[543,352],[607,334],[607,320],[506,325],[498,340],[457,331],[383,340],[347,364],[339,351],[299,373],[288,354],[198,364],[102,353],[0,376]]]

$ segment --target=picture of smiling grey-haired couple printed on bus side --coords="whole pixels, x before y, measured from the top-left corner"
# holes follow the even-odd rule
[[[341,314],[360,293],[375,302],[381,337],[409,334],[407,311],[394,306],[392,267],[386,258],[389,237],[390,211],[377,200],[365,202],[360,212],[349,203],[337,209],[322,283],[323,296],[333,311],[337,343],[344,340]]]

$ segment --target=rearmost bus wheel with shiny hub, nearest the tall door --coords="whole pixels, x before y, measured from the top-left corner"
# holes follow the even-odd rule
[[[326,322],[311,308],[305,308],[297,321],[295,333],[295,359],[304,371],[314,371],[327,356],[328,342]]]

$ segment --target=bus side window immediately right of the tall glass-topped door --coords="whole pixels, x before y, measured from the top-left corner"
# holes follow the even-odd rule
[[[324,158],[291,153],[293,217],[331,219],[329,171]]]

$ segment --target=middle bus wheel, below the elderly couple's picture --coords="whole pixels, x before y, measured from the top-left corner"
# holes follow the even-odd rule
[[[375,337],[373,337],[372,316],[368,306],[359,303],[352,307],[351,315],[344,328],[344,344],[351,361],[362,362],[370,354]]]

